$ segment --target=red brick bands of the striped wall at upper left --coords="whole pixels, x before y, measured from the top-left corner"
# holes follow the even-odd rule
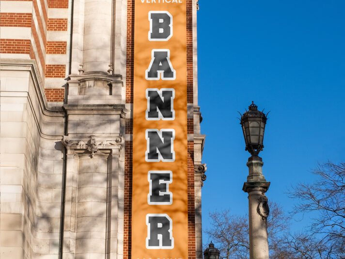
[[[24,0],[26,1],[26,0]],[[13,54],[29,54],[39,65],[41,76],[50,78],[65,78],[66,66],[46,65],[47,54],[66,54],[66,41],[47,42],[47,30],[67,31],[67,19],[48,19],[47,7],[68,8],[68,0],[28,0],[32,1],[34,13],[1,13],[0,26],[3,27],[31,27],[32,38],[1,39],[0,52]],[[67,9],[66,9],[67,12]],[[33,19],[36,16],[37,19]],[[41,69],[42,68],[42,69]],[[48,101],[62,101],[64,89],[47,89]]]

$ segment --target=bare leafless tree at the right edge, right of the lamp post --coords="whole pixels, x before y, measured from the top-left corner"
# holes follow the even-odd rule
[[[314,183],[300,183],[289,193],[299,201],[293,214],[314,212],[309,240],[320,239],[317,243],[330,252],[327,258],[345,258],[345,163],[320,164],[313,173]],[[297,243],[303,240],[295,239]]]

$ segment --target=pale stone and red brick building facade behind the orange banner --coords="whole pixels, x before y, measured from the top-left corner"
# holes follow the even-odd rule
[[[187,4],[188,258],[202,256],[197,0]],[[134,0],[1,0],[0,256],[131,258]]]

